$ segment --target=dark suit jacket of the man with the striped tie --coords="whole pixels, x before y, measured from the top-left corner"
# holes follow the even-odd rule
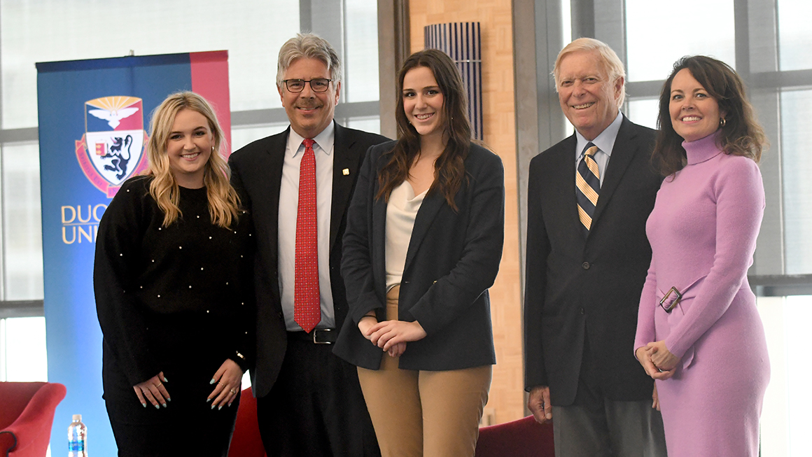
[[[575,135],[530,162],[525,275],[525,389],[550,386],[551,403],[575,399],[584,338],[609,399],[650,399],[652,380],[632,353],[651,261],[646,219],[662,178],[651,165],[655,131],[624,117],[590,235],[575,196]]]

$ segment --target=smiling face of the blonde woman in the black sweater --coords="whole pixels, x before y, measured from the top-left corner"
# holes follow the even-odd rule
[[[184,188],[202,188],[205,164],[212,153],[214,136],[209,121],[195,110],[179,110],[169,139],[166,155],[175,181]]]

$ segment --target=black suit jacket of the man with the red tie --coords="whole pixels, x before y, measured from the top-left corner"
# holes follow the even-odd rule
[[[257,293],[256,368],[252,370],[253,392],[263,397],[274,385],[287,349],[287,330],[279,299],[279,187],[282,183],[287,134],[268,136],[231,154],[231,184],[253,215],[257,238],[254,284]],[[385,136],[353,130],[335,124],[333,147],[333,204],[330,209],[330,285],[333,291],[335,325],[340,329],[347,316],[347,300],[341,279],[341,239],[345,213],[355,188],[361,161],[369,146],[389,140]],[[350,170],[343,175],[343,170]],[[296,214],[290,215],[295,218]]]

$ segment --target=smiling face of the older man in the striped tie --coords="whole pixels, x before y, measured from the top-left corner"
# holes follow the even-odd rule
[[[587,140],[609,127],[618,113],[623,77],[609,80],[595,51],[575,51],[559,64],[558,93],[561,110]]]

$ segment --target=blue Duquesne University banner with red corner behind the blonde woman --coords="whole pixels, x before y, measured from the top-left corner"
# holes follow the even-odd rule
[[[54,457],[67,452],[73,414],[88,426],[90,455],[117,455],[93,299],[98,222],[121,183],[145,170],[149,114],[180,90],[211,102],[231,144],[227,51],[37,63],[48,380],[67,386]]]

